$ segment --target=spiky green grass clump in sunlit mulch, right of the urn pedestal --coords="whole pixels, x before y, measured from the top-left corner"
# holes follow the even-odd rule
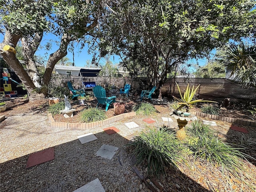
[[[243,161],[240,158],[245,158],[247,155],[239,151],[241,148],[234,148],[215,136],[209,125],[196,121],[187,130],[190,135],[187,144],[194,152],[195,159],[202,158],[213,165],[221,166],[222,171],[242,169]]]

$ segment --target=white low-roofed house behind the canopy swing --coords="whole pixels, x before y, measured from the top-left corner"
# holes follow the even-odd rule
[[[100,70],[99,68],[87,68],[87,67],[76,67],[76,66],[65,66],[65,65],[55,65],[53,72],[56,74],[64,75],[79,75],[80,69],[89,69],[89,70]]]

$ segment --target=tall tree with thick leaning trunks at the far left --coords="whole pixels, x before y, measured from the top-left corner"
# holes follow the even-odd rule
[[[29,92],[35,88],[32,76],[37,71],[34,53],[42,37],[51,32],[60,37],[59,48],[50,54],[42,79],[48,85],[55,64],[67,54],[68,45],[74,41],[89,42],[91,31],[99,24],[106,8],[106,1],[89,0],[0,0],[0,32],[4,41],[0,43],[0,53],[8,65],[16,72]],[[3,47],[21,40],[25,70],[13,52],[4,51]],[[47,93],[44,93],[47,94]]]

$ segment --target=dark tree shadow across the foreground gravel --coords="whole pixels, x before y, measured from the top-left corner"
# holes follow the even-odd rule
[[[57,144],[54,146],[54,160],[28,169],[25,167],[29,154],[2,162],[0,164],[1,191],[72,192],[96,178],[99,178],[106,192],[140,191],[139,186],[142,181],[132,170],[131,158],[124,147],[132,136],[122,137],[117,133],[108,135],[106,132],[94,135],[98,139],[85,144],[81,144],[78,139]],[[118,147],[118,151],[111,160],[94,155],[103,144]],[[16,149],[12,150],[14,150],[12,153],[15,153]],[[192,191],[200,189],[208,192],[179,170],[174,174],[176,174],[176,184],[186,180],[189,181]],[[172,189],[188,191],[177,185]]]

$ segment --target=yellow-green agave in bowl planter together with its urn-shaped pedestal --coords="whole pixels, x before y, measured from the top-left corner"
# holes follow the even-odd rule
[[[177,82],[176,82],[176,84],[177,84]],[[177,84],[181,99],[173,96],[173,98],[179,102],[178,103],[179,107],[177,108],[177,110],[173,111],[173,114],[174,114],[173,117],[178,122],[179,130],[177,131],[177,137],[180,139],[184,139],[186,137],[185,126],[186,126],[186,124],[188,124],[188,121],[197,119],[196,116],[190,117],[190,108],[194,108],[193,104],[198,103],[198,102],[215,102],[215,101],[207,101],[207,100],[203,100],[203,99],[193,100],[193,98],[196,94],[196,90],[199,88],[199,86],[200,85],[198,85],[195,89],[193,86],[192,90],[191,90],[190,86],[188,84],[186,91],[184,92],[184,96],[182,96],[182,94],[180,92],[180,87]]]

